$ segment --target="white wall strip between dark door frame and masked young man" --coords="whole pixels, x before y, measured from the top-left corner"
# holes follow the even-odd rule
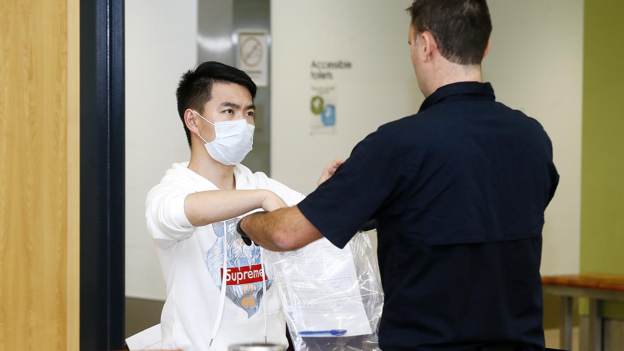
[[[145,195],[189,152],[175,88],[197,61],[197,0],[125,2],[125,293],[164,300]]]

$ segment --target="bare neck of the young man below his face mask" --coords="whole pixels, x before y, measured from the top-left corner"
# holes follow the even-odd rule
[[[202,145],[202,149],[191,149],[191,161],[188,162],[188,169],[210,180],[221,190],[236,189],[234,178],[234,166],[226,166],[215,161]]]

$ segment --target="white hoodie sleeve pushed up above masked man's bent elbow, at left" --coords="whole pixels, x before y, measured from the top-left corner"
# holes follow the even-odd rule
[[[184,200],[188,191],[172,184],[158,184],[145,200],[145,218],[147,231],[154,242],[164,248],[178,240],[186,239],[195,231],[184,212]]]

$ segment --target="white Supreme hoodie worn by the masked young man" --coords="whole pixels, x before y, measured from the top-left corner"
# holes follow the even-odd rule
[[[270,269],[263,281],[265,250],[245,245],[236,233],[243,216],[203,227],[188,222],[185,197],[218,188],[187,167],[188,162],[173,164],[145,201],[147,229],[167,283],[160,317],[162,348],[221,351],[232,344],[264,342],[265,336],[269,343],[288,345]],[[234,177],[237,190],[268,189],[289,206],[303,199],[286,185],[262,172],[252,174],[240,164],[234,166]],[[227,287],[222,290],[224,273]]]

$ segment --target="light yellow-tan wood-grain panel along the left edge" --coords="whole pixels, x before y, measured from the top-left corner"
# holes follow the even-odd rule
[[[78,4],[0,2],[0,350],[78,347]]]

